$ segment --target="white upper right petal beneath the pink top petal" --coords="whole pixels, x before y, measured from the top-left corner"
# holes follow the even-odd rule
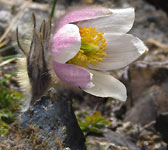
[[[96,27],[104,33],[127,33],[133,26],[135,19],[134,8],[109,9],[111,15],[79,22],[77,25]]]

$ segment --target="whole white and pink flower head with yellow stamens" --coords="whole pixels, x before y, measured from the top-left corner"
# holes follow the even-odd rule
[[[55,74],[92,95],[125,101],[124,84],[108,71],[127,66],[147,50],[140,39],[126,34],[134,18],[133,8],[94,6],[67,13],[50,44]]]

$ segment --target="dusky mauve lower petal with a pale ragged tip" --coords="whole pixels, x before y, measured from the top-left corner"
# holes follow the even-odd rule
[[[91,82],[92,74],[85,68],[73,64],[62,64],[56,61],[53,61],[53,68],[56,75],[67,84],[81,89],[94,86]]]

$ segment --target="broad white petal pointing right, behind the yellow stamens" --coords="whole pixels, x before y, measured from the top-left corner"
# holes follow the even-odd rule
[[[97,70],[115,70],[120,69],[141,56],[147,47],[144,43],[130,34],[105,34],[107,41],[107,55],[103,61],[96,67],[89,66]]]

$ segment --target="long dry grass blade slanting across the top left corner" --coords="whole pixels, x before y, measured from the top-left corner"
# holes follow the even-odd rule
[[[5,37],[8,35],[8,33],[10,32],[11,28],[13,27],[13,25],[16,23],[19,15],[24,11],[25,8],[27,8],[30,4],[32,3],[32,0],[30,1],[26,1],[22,4],[20,11],[16,14],[16,16],[12,19],[10,25],[8,26],[8,28],[5,30],[4,34],[1,36],[0,38],[0,43],[5,39]]]

